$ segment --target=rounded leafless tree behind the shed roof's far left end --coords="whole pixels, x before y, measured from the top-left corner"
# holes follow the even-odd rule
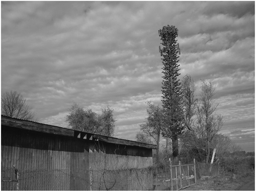
[[[1,96],[1,114],[24,120],[36,120],[35,113],[26,99],[17,91],[5,92]]]

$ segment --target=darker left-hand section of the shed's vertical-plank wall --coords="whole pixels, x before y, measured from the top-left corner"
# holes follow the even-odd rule
[[[14,181],[7,182],[15,180],[13,165],[19,172],[19,190],[85,189],[88,184],[74,177],[88,168],[86,146],[71,137],[2,126],[1,190],[17,190]],[[88,172],[82,171],[80,177],[87,180]]]

